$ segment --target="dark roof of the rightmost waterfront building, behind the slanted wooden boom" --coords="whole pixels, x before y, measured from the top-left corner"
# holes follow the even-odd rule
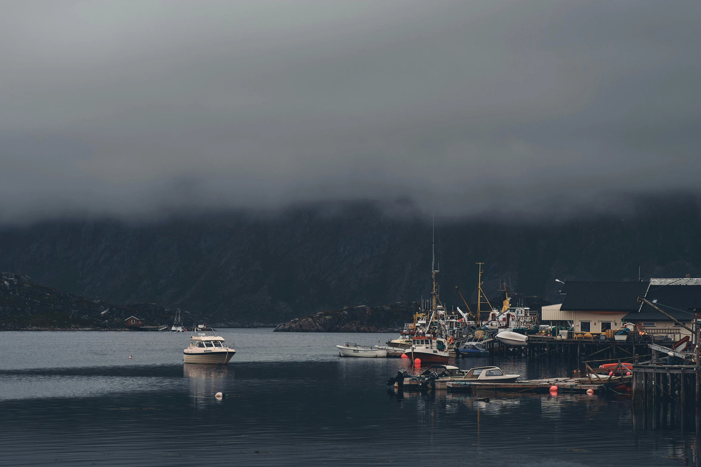
[[[657,300],[655,305],[679,321],[693,319],[693,312],[689,308],[698,308],[701,311],[701,285],[659,286],[653,283],[648,288],[645,298],[651,302]],[[669,321],[667,316],[646,303],[639,311],[627,314],[625,319],[627,321]]]

